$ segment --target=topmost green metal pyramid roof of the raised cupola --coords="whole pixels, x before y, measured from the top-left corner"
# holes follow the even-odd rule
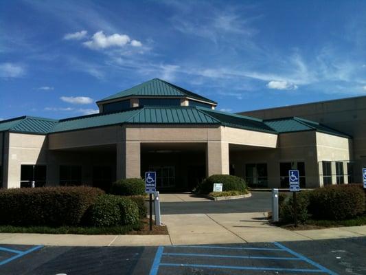
[[[130,89],[126,89],[124,91],[120,91],[117,94],[112,96],[108,96],[107,98],[103,98],[102,100],[97,101],[103,102],[106,100],[113,100],[116,98],[126,98],[128,96],[178,96],[178,97],[190,97],[197,100],[203,100],[205,102],[210,102],[212,104],[217,104],[217,102],[213,100],[209,100],[208,98],[204,98],[198,94],[194,94],[192,91],[188,91],[172,83],[168,83],[159,78],[154,78],[152,80],[141,83],[135,87]]]

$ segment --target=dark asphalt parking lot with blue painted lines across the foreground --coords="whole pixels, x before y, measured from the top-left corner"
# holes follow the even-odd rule
[[[366,274],[365,254],[366,237],[161,247],[0,245],[0,274]]]

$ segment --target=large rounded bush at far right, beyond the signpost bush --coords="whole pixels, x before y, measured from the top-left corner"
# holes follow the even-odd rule
[[[351,219],[365,212],[365,193],[347,184],[318,188],[311,193],[309,211],[314,219]]]

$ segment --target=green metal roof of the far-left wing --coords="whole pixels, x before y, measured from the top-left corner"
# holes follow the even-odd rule
[[[57,122],[58,120],[48,118],[22,116],[20,118],[0,121],[0,131],[47,134],[54,128]]]

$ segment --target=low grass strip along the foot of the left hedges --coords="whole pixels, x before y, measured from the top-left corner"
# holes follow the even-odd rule
[[[82,227],[82,226],[60,226],[53,228],[50,226],[14,226],[14,225],[0,225],[0,232],[2,233],[42,233],[42,234],[86,234],[86,235],[120,235],[132,231],[139,231],[143,228],[143,223],[136,225],[122,225],[108,228],[98,227]]]

